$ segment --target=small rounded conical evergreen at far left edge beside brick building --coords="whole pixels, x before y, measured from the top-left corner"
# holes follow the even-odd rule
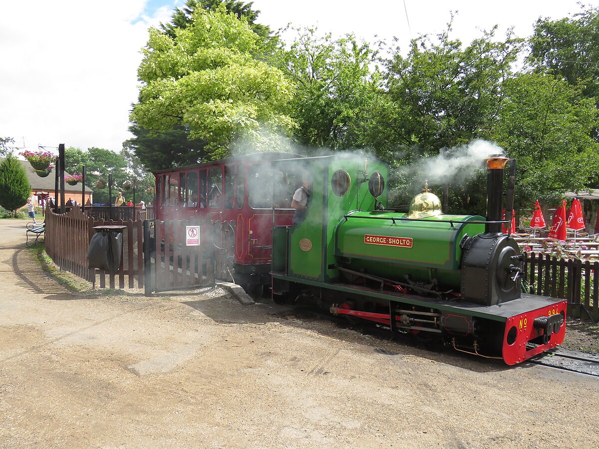
[[[17,217],[17,209],[26,204],[31,195],[31,184],[25,169],[19,160],[10,154],[0,163],[0,206],[13,211]]]

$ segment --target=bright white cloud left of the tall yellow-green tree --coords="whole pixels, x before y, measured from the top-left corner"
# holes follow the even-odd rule
[[[147,28],[173,1],[34,0],[0,5],[0,136],[118,151],[129,138]],[[168,4],[170,3],[170,4]]]

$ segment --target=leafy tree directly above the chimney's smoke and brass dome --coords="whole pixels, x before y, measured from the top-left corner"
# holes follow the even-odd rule
[[[521,48],[510,34],[494,41],[495,29],[462,48],[450,30],[438,42],[413,40],[406,57],[396,48],[386,62],[386,86],[399,114],[391,120],[401,130],[394,137],[416,154],[437,154],[489,135]]]

